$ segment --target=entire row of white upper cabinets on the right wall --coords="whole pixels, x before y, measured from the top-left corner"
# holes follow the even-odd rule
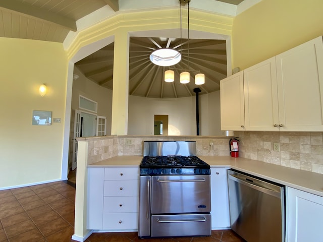
[[[323,131],[321,36],[236,75],[220,82],[222,130]]]

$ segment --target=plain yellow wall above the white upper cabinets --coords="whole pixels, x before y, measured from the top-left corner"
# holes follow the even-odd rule
[[[322,0],[262,0],[235,17],[233,68],[241,70],[323,35]]]

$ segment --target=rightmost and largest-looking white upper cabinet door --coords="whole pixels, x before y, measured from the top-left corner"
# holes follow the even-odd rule
[[[280,131],[323,131],[323,42],[276,56]]]

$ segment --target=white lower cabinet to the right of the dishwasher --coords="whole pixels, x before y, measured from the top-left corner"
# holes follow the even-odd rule
[[[287,188],[286,242],[323,241],[323,197]]]

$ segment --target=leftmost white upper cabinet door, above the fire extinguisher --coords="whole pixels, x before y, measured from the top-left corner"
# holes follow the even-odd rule
[[[244,130],[243,72],[220,82],[221,130]]]

